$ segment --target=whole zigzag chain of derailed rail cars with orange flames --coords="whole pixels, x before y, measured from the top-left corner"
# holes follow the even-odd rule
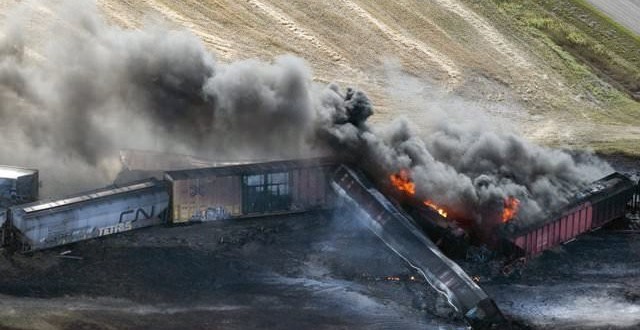
[[[456,219],[452,210],[431,200],[419,200],[408,172],[391,174],[385,186],[373,184],[366,174],[352,168],[356,167],[324,158],[195,168],[166,172],[164,180],[149,179],[27,204],[16,202],[15,197],[6,198],[16,189],[7,182],[17,182],[17,177],[4,175],[0,179],[7,190],[2,191],[6,196],[0,208],[2,242],[26,252],[153,225],[347,205],[390,249],[444,294],[474,329],[484,329],[506,324],[504,316],[447,255],[456,257],[470,244],[487,244],[508,260],[531,258],[624,216],[630,208],[640,207],[638,184],[614,173],[536,223],[522,225],[526,222],[521,222],[518,214],[520,201],[505,200],[493,227],[494,235],[487,240],[486,232],[475,232],[473,223]],[[36,189],[37,175],[30,178],[21,185]],[[24,200],[36,199],[35,194]]]

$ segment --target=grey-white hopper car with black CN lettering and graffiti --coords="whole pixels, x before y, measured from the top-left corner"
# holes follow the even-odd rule
[[[23,251],[40,250],[165,221],[169,193],[148,180],[10,208]]]

